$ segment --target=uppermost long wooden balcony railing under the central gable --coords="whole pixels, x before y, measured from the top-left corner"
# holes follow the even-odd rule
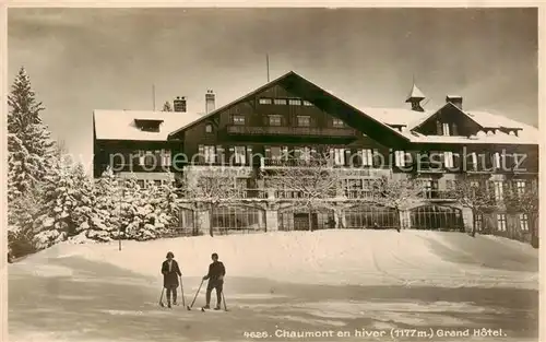
[[[356,138],[357,131],[352,128],[317,128],[317,127],[289,127],[289,126],[238,126],[226,127],[228,134],[241,135],[293,135],[293,137],[341,137]]]

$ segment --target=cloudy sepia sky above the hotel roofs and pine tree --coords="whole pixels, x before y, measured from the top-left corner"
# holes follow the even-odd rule
[[[535,9],[9,9],[8,82],[25,67],[44,121],[92,156],[94,109],[227,104],[290,70],[354,106],[465,109],[537,126]],[[428,101],[428,102],[427,102]]]

